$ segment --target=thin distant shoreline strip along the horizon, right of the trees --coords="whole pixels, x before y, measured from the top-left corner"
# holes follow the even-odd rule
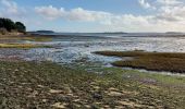
[[[29,33],[37,36],[51,36],[51,37],[185,37],[183,33]]]

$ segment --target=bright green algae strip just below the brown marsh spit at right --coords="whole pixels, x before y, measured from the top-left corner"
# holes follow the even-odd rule
[[[158,83],[158,84],[163,84],[169,86],[178,86],[178,85],[185,86],[185,77],[183,76],[163,75],[157,72],[156,73],[139,72],[138,70],[123,70],[121,68],[106,68],[103,69],[103,71],[112,72],[116,78],[127,77],[134,81],[144,81],[148,78],[148,80],[156,80],[155,82],[151,83]]]

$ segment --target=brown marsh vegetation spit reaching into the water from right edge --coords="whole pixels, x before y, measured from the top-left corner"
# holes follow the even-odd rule
[[[185,53],[145,51],[97,51],[95,53],[121,58],[133,57],[132,60],[113,62],[115,66],[185,73]]]

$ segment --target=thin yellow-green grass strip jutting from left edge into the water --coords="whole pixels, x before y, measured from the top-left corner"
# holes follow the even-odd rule
[[[33,45],[33,44],[0,44],[0,48],[50,48],[50,46]]]

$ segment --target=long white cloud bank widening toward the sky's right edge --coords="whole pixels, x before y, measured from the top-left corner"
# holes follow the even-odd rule
[[[145,1],[144,1],[145,2]],[[146,3],[146,2],[145,2]],[[159,1],[158,1],[159,3]],[[168,2],[169,3],[169,2]],[[174,2],[175,3],[175,2]],[[151,5],[150,5],[151,7]],[[147,7],[147,8],[150,8]],[[96,22],[104,25],[109,29],[132,29],[132,31],[182,31],[185,28],[185,4],[162,2],[152,7],[158,7],[156,14],[148,15],[134,15],[134,14],[113,14],[103,11],[90,11],[83,8],[65,10],[64,8],[58,9],[54,7],[37,7],[35,11],[38,14],[49,19],[62,19],[73,22]],[[104,28],[106,29],[106,28]]]

